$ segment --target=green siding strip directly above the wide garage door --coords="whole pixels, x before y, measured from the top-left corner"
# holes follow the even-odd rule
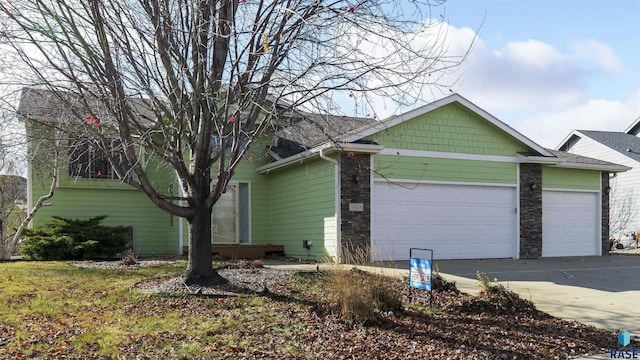
[[[513,162],[374,155],[374,177],[454,182],[517,183]]]

